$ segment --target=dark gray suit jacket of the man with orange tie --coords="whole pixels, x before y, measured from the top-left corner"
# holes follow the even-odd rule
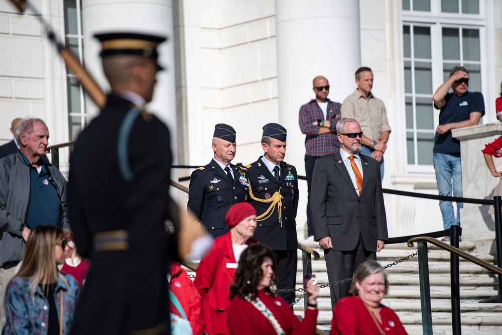
[[[388,240],[380,165],[371,157],[360,157],[360,196],[339,152],[320,157],[314,165],[310,192],[314,240],[331,237],[332,250],[354,250],[359,234],[367,251],[376,252],[377,240]]]

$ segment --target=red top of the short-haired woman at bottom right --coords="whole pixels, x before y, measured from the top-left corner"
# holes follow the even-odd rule
[[[408,335],[396,313],[382,306],[380,327],[386,335]],[[379,334],[371,315],[358,296],[340,299],[333,308],[330,335]]]

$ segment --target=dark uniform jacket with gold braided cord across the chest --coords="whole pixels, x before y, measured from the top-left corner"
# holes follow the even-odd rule
[[[251,201],[256,208],[259,217],[253,238],[273,250],[296,250],[298,248],[296,235],[298,176],[296,168],[286,162],[281,162],[279,183],[263,163],[262,157],[247,165],[246,168],[249,187],[253,196],[258,199],[251,199],[248,196],[248,201]],[[278,192],[277,195],[276,192]],[[274,200],[262,202],[263,200],[270,201],[274,197],[278,197],[277,200],[281,201],[280,207],[279,202]],[[268,213],[264,215],[267,211]],[[263,218],[260,218],[262,215],[264,215]]]

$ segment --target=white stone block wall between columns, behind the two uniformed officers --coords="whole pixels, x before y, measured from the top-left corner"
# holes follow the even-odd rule
[[[177,90],[187,104],[178,109],[187,113],[183,128],[188,141],[188,154],[180,161],[207,164],[217,123],[237,132],[234,162],[255,161],[263,153],[263,125],[279,121],[274,2],[178,5],[184,20],[175,32],[183,34],[179,48],[186,67],[183,78],[177,77]],[[199,20],[194,13],[200,14]]]

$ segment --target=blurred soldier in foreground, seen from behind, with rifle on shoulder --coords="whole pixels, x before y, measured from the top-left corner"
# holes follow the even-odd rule
[[[170,136],[145,111],[165,38],[96,35],[111,93],[70,161],[75,244],[91,268],[72,334],[169,334],[164,220],[171,205]]]

